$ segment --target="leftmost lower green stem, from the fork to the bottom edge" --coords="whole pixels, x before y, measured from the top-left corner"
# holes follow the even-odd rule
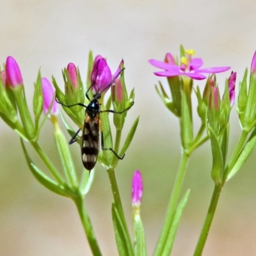
[[[74,198],[74,202],[76,204],[77,211],[79,212],[80,219],[83,223],[84,232],[88,239],[88,243],[90,244],[90,248],[92,250],[93,255],[94,256],[102,255],[100,252],[99,244],[97,243],[97,239],[93,231],[92,223],[90,221],[88,212],[84,204],[83,196],[82,195],[77,196],[76,198]]]

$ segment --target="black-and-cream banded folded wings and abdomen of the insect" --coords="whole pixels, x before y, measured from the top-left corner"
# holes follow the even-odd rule
[[[99,154],[99,114],[90,118],[86,113],[82,135],[81,154],[84,167],[92,170]]]

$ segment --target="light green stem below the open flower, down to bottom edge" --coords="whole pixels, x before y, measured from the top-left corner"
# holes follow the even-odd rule
[[[154,256],[162,256],[163,250],[164,250],[164,244],[168,243],[166,241],[168,237],[168,233],[170,230],[170,227],[172,226],[172,220],[173,216],[175,214],[175,210],[178,204],[179,195],[180,195],[180,189],[182,187],[182,183],[185,177],[186,168],[188,166],[188,160],[189,160],[189,154],[186,152],[186,150],[182,151],[182,156],[180,159],[180,166],[179,170],[177,172],[175,183],[172,190],[172,195],[169,200],[169,205],[166,211],[166,218],[164,220],[163,228],[161,230],[160,237],[157,241],[157,247],[154,252]]]

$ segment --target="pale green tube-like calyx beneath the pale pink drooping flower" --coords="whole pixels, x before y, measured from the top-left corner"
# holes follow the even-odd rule
[[[67,140],[60,127],[58,127],[58,124],[55,124],[54,127],[54,139],[58,148],[65,177],[67,179],[68,185],[76,189],[78,187],[76,168],[70,154]]]

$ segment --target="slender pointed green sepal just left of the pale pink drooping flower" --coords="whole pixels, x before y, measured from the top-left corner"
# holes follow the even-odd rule
[[[37,133],[39,132],[38,131],[39,120],[40,120],[40,115],[42,114],[42,111],[43,111],[43,104],[44,104],[40,70],[38,70],[38,75],[37,75],[36,83],[34,84],[34,86],[35,86],[35,92],[33,97],[33,111],[35,115],[35,131]]]

